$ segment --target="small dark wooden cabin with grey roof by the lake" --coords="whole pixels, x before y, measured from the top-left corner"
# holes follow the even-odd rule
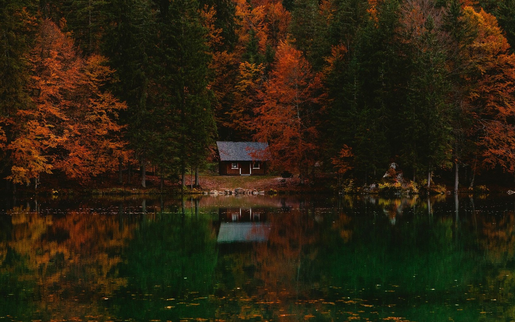
[[[266,174],[267,143],[217,141],[221,176],[256,176]]]

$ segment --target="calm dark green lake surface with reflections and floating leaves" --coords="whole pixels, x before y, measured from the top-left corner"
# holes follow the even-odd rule
[[[512,321],[514,200],[4,200],[0,322]]]

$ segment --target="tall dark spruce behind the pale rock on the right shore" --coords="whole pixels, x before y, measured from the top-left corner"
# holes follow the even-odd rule
[[[426,18],[419,20],[420,14]],[[432,7],[403,8],[401,34],[408,70],[406,100],[399,117],[403,121],[401,156],[414,174],[427,175],[427,188],[433,170],[449,166],[452,150],[445,52],[433,14]]]

